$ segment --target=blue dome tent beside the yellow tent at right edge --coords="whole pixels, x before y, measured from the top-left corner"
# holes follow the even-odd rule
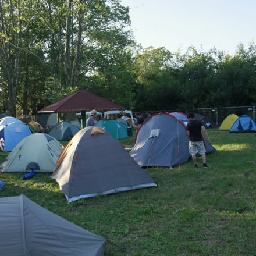
[[[230,129],[230,133],[248,133],[256,131],[254,120],[247,115],[240,116]]]

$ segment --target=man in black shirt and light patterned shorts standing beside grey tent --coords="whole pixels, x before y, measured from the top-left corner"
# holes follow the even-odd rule
[[[207,136],[207,140],[211,142],[207,130],[201,121],[195,120],[194,113],[188,113],[187,118],[189,119],[189,123],[187,124],[187,134],[189,135],[189,153],[193,159],[195,168],[198,167],[196,156],[197,152],[202,156],[202,166],[204,168],[210,167],[206,163],[206,150],[201,135],[201,131],[203,131],[205,136]]]

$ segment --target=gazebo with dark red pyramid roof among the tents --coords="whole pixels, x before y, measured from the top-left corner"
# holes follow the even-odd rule
[[[79,90],[76,93],[41,109],[37,113],[64,113],[81,112],[82,128],[86,126],[86,111],[97,109],[97,111],[124,109],[87,90]]]

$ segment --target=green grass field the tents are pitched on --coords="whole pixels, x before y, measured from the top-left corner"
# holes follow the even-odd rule
[[[256,255],[256,137],[208,130],[216,152],[211,168],[193,162],[146,169],[158,187],[87,198],[67,204],[58,183],[38,173],[1,173],[0,197],[23,193],[118,246],[105,255]],[[132,144],[130,140],[122,144]],[[0,160],[6,157],[0,153]]]

